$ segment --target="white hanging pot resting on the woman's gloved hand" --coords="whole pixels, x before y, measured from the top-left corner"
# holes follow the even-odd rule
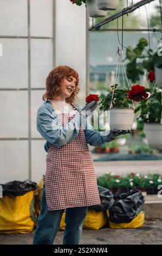
[[[107,110],[110,129],[131,130],[134,121],[134,109],[128,107],[109,108]]]

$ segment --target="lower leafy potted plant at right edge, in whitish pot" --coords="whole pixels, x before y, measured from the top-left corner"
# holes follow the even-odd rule
[[[135,113],[139,112],[139,119],[144,122],[147,142],[150,148],[162,149],[161,92],[154,82],[153,88],[147,89],[150,96],[139,102]]]

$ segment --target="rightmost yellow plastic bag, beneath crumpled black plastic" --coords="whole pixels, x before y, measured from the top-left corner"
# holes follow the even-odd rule
[[[107,212],[107,217],[109,218],[109,211],[107,210],[106,212]],[[141,211],[140,214],[129,223],[114,223],[114,222],[111,222],[109,219],[108,219],[108,223],[110,228],[140,228],[140,227],[143,227],[144,220],[145,220],[145,213],[144,211]]]

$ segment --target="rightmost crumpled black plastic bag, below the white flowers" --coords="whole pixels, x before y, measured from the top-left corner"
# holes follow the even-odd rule
[[[144,208],[145,199],[140,190],[115,194],[114,199],[115,202],[109,209],[109,220],[114,223],[129,223]]]

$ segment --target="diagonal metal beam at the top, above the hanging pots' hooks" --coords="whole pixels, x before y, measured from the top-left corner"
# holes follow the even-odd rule
[[[143,5],[145,5],[147,3],[151,3],[153,1],[155,1],[155,0],[142,0],[142,1],[139,1],[138,3],[132,4],[132,5],[124,8],[123,10],[119,11],[118,13],[115,13],[114,15],[104,19],[103,21],[99,22],[98,24],[93,25],[92,27],[88,28],[88,31],[93,31],[93,30],[98,31],[100,29],[100,27],[102,27],[103,25],[106,25],[109,22],[118,19],[122,15],[132,13],[134,10],[142,7]]]

